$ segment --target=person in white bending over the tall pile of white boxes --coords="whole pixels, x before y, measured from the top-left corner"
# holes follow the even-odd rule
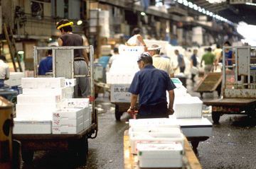
[[[125,45],[127,46],[144,46],[144,50],[146,51],[146,43],[143,40],[142,35],[140,35],[141,30],[139,28],[134,28],[134,30],[132,30],[132,37],[129,38],[129,40],[127,40],[127,42],[125,43]]]

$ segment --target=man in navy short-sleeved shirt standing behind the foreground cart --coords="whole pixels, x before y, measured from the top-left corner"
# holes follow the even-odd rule
[[[129,88],[131,106],[127,112],[133,113],[139,95],[138,118],[161,118],[174,113],[174,88],[176,86],[166,71],[156,69],[153,59],[144,52],[138,60],[138,71]],[[167,107],[166,91],[169,92],[169,107]]]

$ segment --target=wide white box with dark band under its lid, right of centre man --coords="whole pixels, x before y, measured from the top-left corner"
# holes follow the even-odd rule
[[[212,136],[213,124],[207,118],[178,119],[185,136]]]

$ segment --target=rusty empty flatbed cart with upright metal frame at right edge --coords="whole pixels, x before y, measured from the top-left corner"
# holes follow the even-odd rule
[[[235,52],[234,59],[223,59],[223,98],[203,102],[212,106],[212,118],[219,123],[223,114],[255,116],[256,108],[256,54],[255,47],[223,47]]]

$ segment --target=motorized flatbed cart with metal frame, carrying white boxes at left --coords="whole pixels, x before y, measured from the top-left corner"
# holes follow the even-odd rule
[[[68,150],[78,164],[86,163],[88,153],[87,139],[97,136],[98,122],[94,101],[94,77],[93,77],[93,47],[34,47],[35,77],[37,77],[39,50],[53,50],[53,77],[76,78],[82,75],[74,74],[74,49],[90,49],[90,83],[92,104],[92,122],[90,127],[83,129],[78,134],[14,134],[14,139],[21,141],[22,158],[25,162],[33,160],[34,151]],[[83,75],[85,76],[85,75]],[[89,77],[89,76],[87,76]]]

